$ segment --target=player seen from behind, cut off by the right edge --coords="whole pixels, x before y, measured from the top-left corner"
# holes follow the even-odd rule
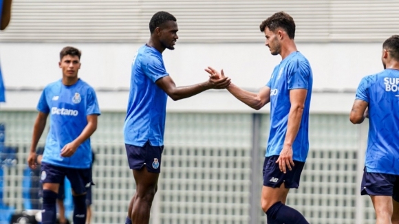
[[[350,121],[369,118],[361,194],[369,194],[377,224],[399,224],[399,36],[382,44],[384,70],[365,76],[356,91]]]

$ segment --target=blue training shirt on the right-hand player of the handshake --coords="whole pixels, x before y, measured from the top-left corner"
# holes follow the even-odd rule
[[[306,161],[309,151],[309,107],[313,75],[308,60],[300,52],[292,52],[274,67],[266,86],[270,87],[270,135],[266,157],[280,155],[287,133],[290,113],[290,89],[308,89],[301,126],[292,144],[293,160]]]

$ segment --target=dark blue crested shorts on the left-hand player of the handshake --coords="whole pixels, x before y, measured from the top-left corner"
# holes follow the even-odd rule
[[[164,146],[151,146],[149,142],[144,146],[125,144],[127,161],[131,170],[141,170],[145,165],[149,172],[161,172],[161,159]]]

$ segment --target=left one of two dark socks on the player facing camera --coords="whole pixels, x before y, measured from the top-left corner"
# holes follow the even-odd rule
[[[56,223],[57,193],[52,190],[43,190],[43,210],[41,213],[42,224]]]

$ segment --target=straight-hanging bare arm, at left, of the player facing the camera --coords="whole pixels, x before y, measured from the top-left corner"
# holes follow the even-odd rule
[[[32,143],[30,144],[30,153],[28,156],[28,165],[32,169],[36,168],[36,147],[41,135],[43,134],[45,123],[47,122],[47,116],[48,113],[43,113],[39,111],[39,114],[36,117],[36,121],[34,122]]]

